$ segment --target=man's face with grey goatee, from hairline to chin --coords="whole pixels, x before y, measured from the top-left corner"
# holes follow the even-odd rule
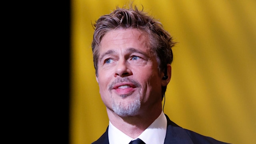
[[[148,36],[137,29],[105,34],[99,47],[102,101],[119,116],[134,116],[161,104],[161,81]]]

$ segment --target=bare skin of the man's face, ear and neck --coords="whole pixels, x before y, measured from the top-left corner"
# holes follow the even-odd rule
[[[140,30],[116,29],[105,34],[99,47],[96,80],[102,101],[110,122],[131,138],[138,137],[162,112],[161,86],[167,86],[171,77],[168,64],[168,79],[162,80],[164,73],[158,72],[148,40]],[[122,82],[125,78],[129,80]],[[118,115],[112,108],[112,103],[127,108],[136,99],[140,108],[131,114]]]

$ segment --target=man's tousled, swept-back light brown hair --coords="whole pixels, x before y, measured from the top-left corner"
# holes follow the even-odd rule
[[[148,16],[143,11],[143,8],[138,10],[136,6],[133,8],[132,4],[130,8],[125,8],[125,6],[123,8],[116,7],[116,10],[110,14],[101,16],[93,26],[92,52],[96,76],[98,76],[99,46],[102,38],[111,30],[127,28],[140,30],[148,36],[150,40],[149,46],[156,56],[159,74],[161,72],[166,74],[167,64],[172,63],[172,47],[175,42],[173,42],[170,34],[164,30],[162,24]],[[166,86],[162,86],[162,98],[165,92]]]

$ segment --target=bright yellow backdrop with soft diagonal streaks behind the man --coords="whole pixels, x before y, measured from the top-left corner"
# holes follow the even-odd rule
[[[72,0],[70,143],[90,144],[108,126],[95,79],[92,24],[128,0]],[[256,1],[135,0],[178,44],[164,112],[183,128],[256,144]]]

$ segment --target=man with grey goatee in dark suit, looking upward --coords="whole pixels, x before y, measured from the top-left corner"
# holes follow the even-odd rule
[[[109,126],[93,144],[223,143],[183,129],[163,113],[175,43],[160,22],[135,6],[117,8],[94,26],[94,67]]]

